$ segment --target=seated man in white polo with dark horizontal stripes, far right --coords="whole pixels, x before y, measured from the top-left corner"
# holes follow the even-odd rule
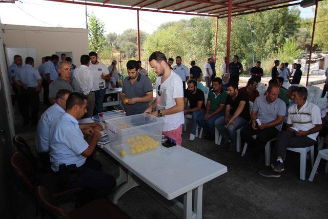
[[[282,157],[288,147],[305,148],[317,143],[318,133],[322,129],[320,108],[306,101],[308,90],[305,87],[299,87],[293,96],[294,105],[288,109],[287,131],[277,135],[273,169],[259,171],[262,176],[280,177],[280,172],[284,171]]]

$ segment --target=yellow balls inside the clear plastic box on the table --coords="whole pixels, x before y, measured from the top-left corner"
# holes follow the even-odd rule
[[[152,137],[149,137],[148,135],[137,135],[135,137],[128,138],[127,144],[131,146],[131,154],[142,153],[158,147],[158,142],[156,142]],[[126,155],[126,151],[121,151],[120,155]]]

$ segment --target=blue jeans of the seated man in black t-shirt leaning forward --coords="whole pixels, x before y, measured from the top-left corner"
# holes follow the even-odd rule
[[[235,124],[231,124],[231,125],[229,125],[228,128],[226,128],[224,126],[224,125],[226,125],[225,120],[226,120],[225,117],[222,116],[214,122],[214,125],[219,130],[219,132],[222,135],[222,137],[224,138],[224,140],[231,141],[232,145],[237,145],[237,143],[236,143],[237,142],[237,140],[236,140],[237,139],[237,129],[244,127],[245,125],[248,124],[248,122],[244,118],[238,116],[237,118],[235,118],[235,121],[234,121]]]

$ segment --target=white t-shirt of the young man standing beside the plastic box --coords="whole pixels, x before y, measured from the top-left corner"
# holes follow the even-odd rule
[[[157,110],[169,109],[176,105],[175,98],[183,98],[182,81],[179,75],[171,71],[171,75],[160,84],[161,77],[156,79],[156,101]],[[160,86],[159,86],[160,85]],[[158,89],[159,88],[159,89]],[[158,95],[158,92],[160,95]],[[181,124],[185,123],[183,111],[171,115],[163,116],[164,127],[163,131],[172,131],[177,129]]]

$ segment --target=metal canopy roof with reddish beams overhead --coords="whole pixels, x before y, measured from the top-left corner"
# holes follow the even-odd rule
[[[140,11],[176,13],[200,16],[223,16],[228,14],[228,0],[47,0],[81,5],[103,6]],[[288,0],[233,0],[232,14],[256,12],[268,9]],[[299,3],[298,3],[299,4]]]

